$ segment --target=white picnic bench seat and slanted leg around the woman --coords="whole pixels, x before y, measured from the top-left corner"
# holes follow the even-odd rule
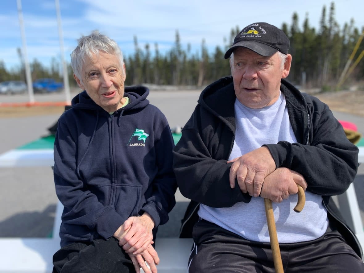
[[[53,238],[1,238],[1,273],[51,273],[52,256],[60,248],[58,236],[63,206],[56,207]],[[192,239],[158,238],[158,273],[186,273]]]

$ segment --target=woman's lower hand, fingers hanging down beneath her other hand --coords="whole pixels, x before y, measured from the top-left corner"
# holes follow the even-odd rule
[[[142,268],[145,273],[157,273],[156,265],[159,264],[159,257],[152,245],[149,245],[146,250],[141,254],[133,255],[129,254],[131,261],[134,265],[135,272],[140,273]],[[146,263],[149,265],[146,265]]]

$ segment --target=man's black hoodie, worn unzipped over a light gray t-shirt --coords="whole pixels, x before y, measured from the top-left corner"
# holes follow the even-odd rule
[[[306,190],[323,197],[329,219],[335,217],[340,232],[362,257],[355,234],[344,223],[330,198],[344,193],[355,178],[359,150],[347,139],[343,127],[326,104],[302,94],[285,80],[280,89],[297,142],[280,141],[265,146],[270,150],[276,168],[287,167],[302,174],[308,183]],[[199,203],[231,207],[251,199],[238,185],[231,189],[229,184],[232,163],[227,164],[227,160],[235,138],[235,100],[231,76],[206,87],[174,148],[177,184],[181,193],[191,199],[182,220],[181,237],[191,236]]]

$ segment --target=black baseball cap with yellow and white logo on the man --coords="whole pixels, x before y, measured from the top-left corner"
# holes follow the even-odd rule
[[[254,23],[236,35],[232,47],[225,53],[225,59],[228,59],[237,47],[246,47],[262,56],[272,56],[278,51],[288,54],[289,39],[274,25]]]

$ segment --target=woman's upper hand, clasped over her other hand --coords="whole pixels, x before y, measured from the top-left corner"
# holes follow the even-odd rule
[[[153,240],[154,221],[149,214],[144,213],[142,216],[129,217],[123,225],[126,234],[120,238],[119,245],[123,247],[126,253],[141,254],[150,246]]]

